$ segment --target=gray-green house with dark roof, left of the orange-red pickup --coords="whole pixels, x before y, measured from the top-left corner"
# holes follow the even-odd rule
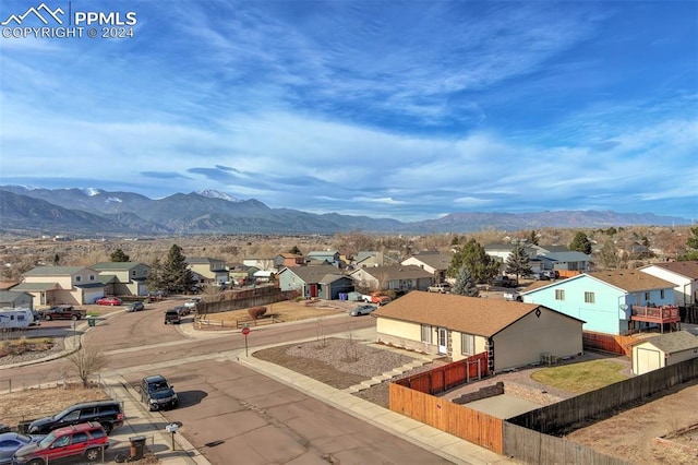
[[[298,290],[304,298],[338,299],[353,290],[351,277],[333,265],[290,266],[277,275],[281,290]]]

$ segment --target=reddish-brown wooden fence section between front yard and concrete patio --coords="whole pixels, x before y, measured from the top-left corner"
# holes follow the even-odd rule
[[[419,392],[437,394],[488,374],[488,354],[482,353],[395,382]]]

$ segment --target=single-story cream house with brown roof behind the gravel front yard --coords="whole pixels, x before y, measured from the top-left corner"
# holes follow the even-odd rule
[[[378,342],[453,361],[488,353],[494,371],[582,351],[583,321],[535,303],[412,291],[372,315]]]

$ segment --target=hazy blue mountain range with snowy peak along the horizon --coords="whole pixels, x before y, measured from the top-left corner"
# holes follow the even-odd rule
[[[214,190],[149,199],[133,192],[100,189],[34,189],[0,186],[0,230],[47,235],[201,235],[201,234],[334,234],[472,233],[544,227],[610,227],[687,225],[686,218],[652,213],[556,211],[539,213],[452,213],[436,219],[405,223],[390,218],[313,214],[270,208]]]

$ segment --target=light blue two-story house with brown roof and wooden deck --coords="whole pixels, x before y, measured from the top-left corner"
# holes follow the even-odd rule
[[[583,273],[521,293],[540,303],[585,321],[583,331],[626,335],[642,324],[675,324],[674,285],[637,270]]]

